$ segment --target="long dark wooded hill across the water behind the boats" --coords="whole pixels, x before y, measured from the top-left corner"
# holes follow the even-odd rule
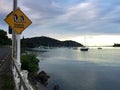
[[[67,40],[67,41],[60,41],[57,39],[53,39],[50,37],[33,37],[33,38],[23,38],[21,40],[22,47],[34,48],[39,46],[49,46],[49,47],[81,47],[82,44]]]

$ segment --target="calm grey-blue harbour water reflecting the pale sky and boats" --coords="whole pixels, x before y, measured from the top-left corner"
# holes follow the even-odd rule
[[[40,70],[51,76],[47,90],[56,84],[60,90],[120,90],[120,48],[56,48],[37,55]]]

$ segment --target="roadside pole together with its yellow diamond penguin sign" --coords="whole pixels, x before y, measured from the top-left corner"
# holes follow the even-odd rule
[[[18,65],[20,63],[20,34],[32,23],[32,21],[17,8],[17,0],[13,1],[13,11],[4,19],[12,28],[12,54]]]

